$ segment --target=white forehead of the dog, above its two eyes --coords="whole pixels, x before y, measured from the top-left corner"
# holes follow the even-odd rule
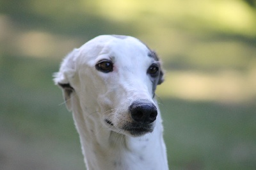
[[[115,59],[143,59],[158,61],[156,53],[145,43],[132,36],[102,35],[93,38],[80,48],[82,56],[95,60],[99,56],[109,56]]]

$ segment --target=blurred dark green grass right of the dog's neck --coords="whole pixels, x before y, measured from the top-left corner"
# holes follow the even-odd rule
[[[166,98],[161,109],[173,169],[255,167],[254,105]]]

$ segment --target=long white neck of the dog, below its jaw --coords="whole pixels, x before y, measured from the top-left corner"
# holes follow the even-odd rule
[[[104,128],[95,122],[99,120],[95,110],[84,111],[78,98],[72,100],[76,104],[73,117],[87,169],[168,169],[160,114],[154,132],[130,137]]]

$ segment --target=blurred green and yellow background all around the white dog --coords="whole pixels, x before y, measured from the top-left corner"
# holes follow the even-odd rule
[[[52,73],[97,35],[155,49],[170,169],[256,169],[253,0],[0,1],[0,169],[84,169]]]

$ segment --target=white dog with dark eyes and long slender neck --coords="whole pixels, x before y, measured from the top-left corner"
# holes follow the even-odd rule
[[[68,54],[54,77],[73,112],[87,169],[168,169],[155,98],[163,71],[147,45],[97,36]]]

